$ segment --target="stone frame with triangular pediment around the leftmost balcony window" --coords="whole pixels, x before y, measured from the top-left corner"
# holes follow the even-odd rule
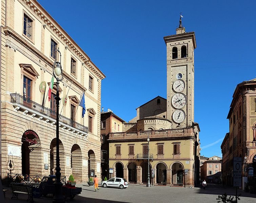
[[[20,66],[20,74],[21,74],[21,92],[23,95],[23,78],[26,76],[32,81],[31,85],[31,100],[35,101],[35,95],[36,95],[36,80],[39,76],[36,69],[31,64],[19,64]]]

